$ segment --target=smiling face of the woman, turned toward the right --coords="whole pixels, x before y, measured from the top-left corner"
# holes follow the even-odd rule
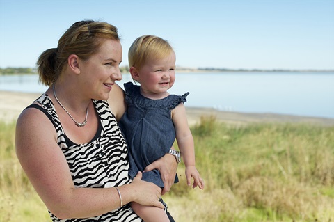
[[[95,100],[107,100],[115,81],[122,79],[122,45],[118,40],[104,40],[99,51],[81,66],[85,93]]]

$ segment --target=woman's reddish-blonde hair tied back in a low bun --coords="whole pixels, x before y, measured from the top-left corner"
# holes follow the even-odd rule
[[[71,54],[85,61],[100,49],[103,39],[119,41],[118,29],[106,22],[93,20],[72,24],[59,39],[58,47],[47,49],[38,58],[40,82],[47,86],[54,84],[65,71]]]

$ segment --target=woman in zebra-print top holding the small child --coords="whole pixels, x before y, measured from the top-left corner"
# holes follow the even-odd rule
[[[40,81],[49,88],[19,116],[16,151],[53,221],[141,221],[128,203],[164,208],[159,187],[142,181],[141,173],[133,181],[128,176],[127,145],[116,121],[126,109],[115,84],[121,61],[116,27],[94,21],[74,23],[57,48],[38,58]],[[166,154],[145,171],[161,171],[164,193],[176,165]]]

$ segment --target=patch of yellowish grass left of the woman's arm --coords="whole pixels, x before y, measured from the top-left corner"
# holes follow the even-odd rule
[[[49,221],[15,154],[15,122],[0,122],[0,221]]]

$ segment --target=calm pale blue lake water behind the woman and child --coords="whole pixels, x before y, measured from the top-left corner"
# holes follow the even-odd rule
[[[333,72],[206,72],[177,74],[170,93],[189,92],[186,106],[243,113],[334,118]],[[120,86],[132,81],[123,74]],[[37,75],[1,76],[0,90],[43,93]]]

